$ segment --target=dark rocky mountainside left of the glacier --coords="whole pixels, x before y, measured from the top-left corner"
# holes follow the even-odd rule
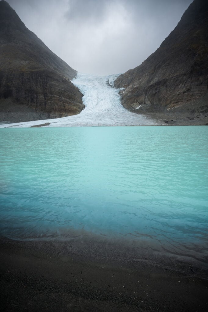
[[[70,82],[76,74],[0,1],[0,121],[80,113],[82,94]]]

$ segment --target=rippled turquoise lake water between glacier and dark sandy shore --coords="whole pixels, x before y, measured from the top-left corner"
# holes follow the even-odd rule
[[[0,234],[208,259],[208,127],[0,130]]]

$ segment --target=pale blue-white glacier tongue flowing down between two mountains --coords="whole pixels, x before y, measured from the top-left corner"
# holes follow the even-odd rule
[[[120,103],[119,90],[113,82],[119,75],[97,76],[78,73],[72,83],[84,95],[85,109],[79,115],[69,117],[36,120],[18,124],[3,124],[0,127],[31,127],[50,123],[46,127],[73,126],[140,126],[157,125],[147,117],[126,110]]]

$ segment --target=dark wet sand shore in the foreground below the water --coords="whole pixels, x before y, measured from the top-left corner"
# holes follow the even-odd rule
[[[208,280],[194,267],[80,256],[62,252],[67,244],[1,238],[2,311],[208,310]]]

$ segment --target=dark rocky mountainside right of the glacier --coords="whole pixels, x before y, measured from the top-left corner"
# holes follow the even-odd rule
[[[200,118],[206,124],[207,30],[208,1],[194,0],[161,46],[140,66],[117,78],[114,85],[126,88],[121,91],[123,106],[137,113]]]

